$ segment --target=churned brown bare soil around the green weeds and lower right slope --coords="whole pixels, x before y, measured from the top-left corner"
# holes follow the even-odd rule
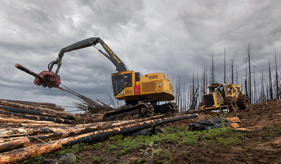
[[[271,100],[258,104],[251,104],[249,110],[230,112],[226,117],[239,117],[242,121],[240,128],[252,129],[241,138],[242,144],[232,144],[228,147],[208,145],[199,140],[196,145],[179,145],[173,142],[161,142],[153,149],[165,148],[175,154],[173,163],[278,163],[281,164],[281,132],[276,129],[281,126],[281,100]],[[197,118],[170,123],[171,126],[188,126],[189,123],[200,120],[217,118],[218,114],[213,112],[202,112]],[[122,156],[108,154],[106,151],[80,151],[77,156],[82,157],[80,163],[94,163],[87,157],[103,156],[106,163],[156,163],[160,156],[152,156],[145,153],[139,156],[141,150],[149,147],[137,148]],[[185,150],[185,154],[182,154]],[[140,162],[140,159],[146,159]],[[163,163],[163,162],[162,162]]]

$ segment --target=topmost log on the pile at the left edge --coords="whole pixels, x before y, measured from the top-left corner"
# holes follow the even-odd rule
[[[36,107],[40,107],[40,108],[53,109],[53,110],[58,110],[58,111],[64,111],[65,110],[64,108],[57,107],[56,104],[54,104],[54,103],[40,103],[40,102],[19,101],[19,100],[0,100],[0,104],[1,104],[1,101],[23,104],[23,105],[29,105],[29,106],[36,106]]]

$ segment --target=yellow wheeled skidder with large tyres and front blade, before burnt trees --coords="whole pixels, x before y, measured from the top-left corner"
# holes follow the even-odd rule
[[[204,101],[199,103],[198,110],[212,112],[237,112],[249,109],[249,98],[241,90],[239,84],[218,84],[208,86],[209,93],[203,95]]]

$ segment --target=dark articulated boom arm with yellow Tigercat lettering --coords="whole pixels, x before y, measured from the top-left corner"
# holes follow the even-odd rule
[[[86,47],[90,47],[90,46],[95,47],[95,45],[97,43],[100,43],[102,45],[102,47],[105,49],[107,54],[102,52],[97,47],[96,48],[99,50],[99,52],[101,52],[104,56],[106,56],[106,58],[108,58],[114,64],[117,71],[119,71],[119,72],[128,71],[127,66],[120,60],[119,57],[117,57],[117,55],[115,55],[115,53],[99,37],[98,38],[88,38],[88,39],[85,39],[83,41],[79,41],[77,43],[71,44],[68,47],[62,48],[59,52],[59,57],[56,59],[56,61],[52,61],[51,63],[49,63],[49,65],[48,65],[49,71],[52,72],[54,64],[57,64],[58,67],[57,67],[54,75],[58,74],[59,68],[62,64],[62,62],[61,62],[62,57],[63,57],[65,52],[70,52],[70,51],[73,51],[73,50],[82,49],[82,48],[86,48]]]

